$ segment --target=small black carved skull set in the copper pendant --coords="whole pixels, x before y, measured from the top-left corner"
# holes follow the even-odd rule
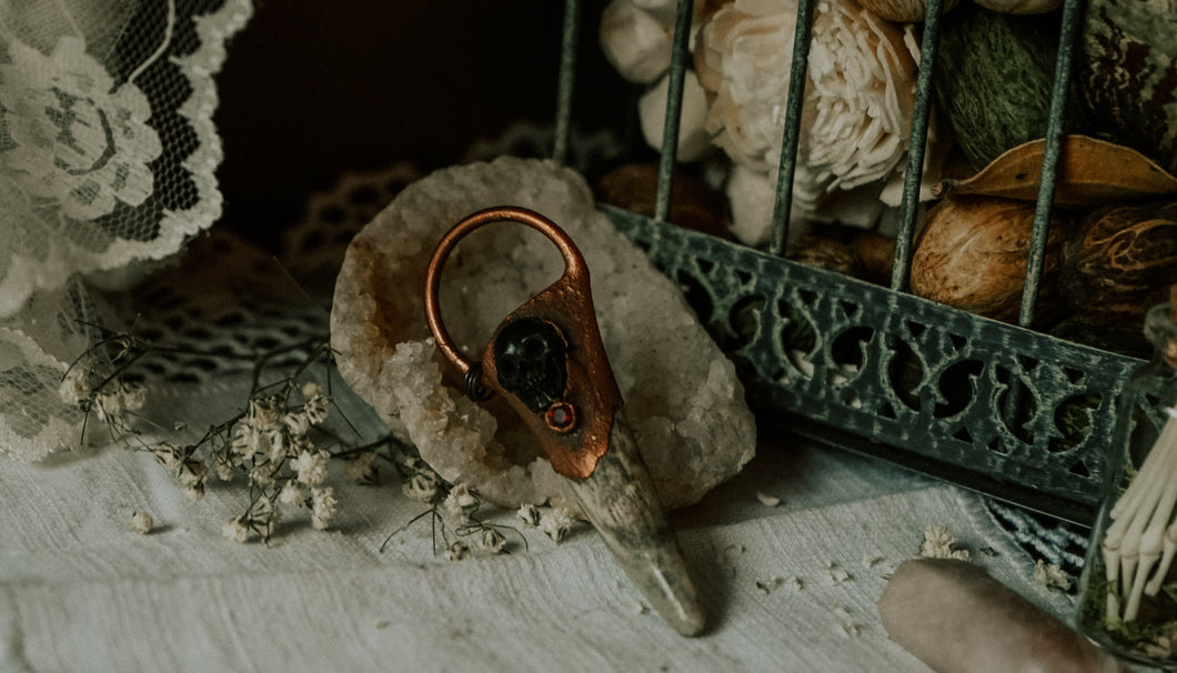
[[[520,318],[494,339],[494,368],[503,389],[533,412],[564,395],[568,345],[560,329],[538,318]]]

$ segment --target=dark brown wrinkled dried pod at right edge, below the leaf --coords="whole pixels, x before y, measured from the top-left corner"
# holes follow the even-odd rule
[[[1169,299],[1177,278],[1177,204],[1111,206],[1091,213],[1063,247],[1063,295],[1105,339],[1148,351],[1144,313]]]

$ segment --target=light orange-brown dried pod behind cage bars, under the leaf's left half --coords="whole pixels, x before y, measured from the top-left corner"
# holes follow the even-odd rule
[[[1033,204],[996,198],[933,206],[916,238],[911,291],[965,311],[1015,322],[1025,286]],[[1036,314],[1058,318],[1058,267],[1068,221],[1052,214]]]

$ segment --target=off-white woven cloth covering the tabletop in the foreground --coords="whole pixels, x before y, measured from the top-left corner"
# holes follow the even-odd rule
[[[202,384],[157,404],[214,418],[233,389]],[[365,409],[346,411],[371,427]],[[673,519],[712,622],[697,639],[645,607],[586,525],[559,546],[526,531],[527,549],[450,562],[423,520],[380,553],[421,507],[393,479],[341,487],[333,529],[292,518],[267,548],[221,537],[244,485],[191,502],[151,455],[121,448],[9,461],[0,671],[926,671],[887,639],[875,601],[932,525],[1069,617],[1071,599],[1035,582],[982,498],[787,438],[764,444]],[[151,534],[131,531],[134,509],[154,517]]]

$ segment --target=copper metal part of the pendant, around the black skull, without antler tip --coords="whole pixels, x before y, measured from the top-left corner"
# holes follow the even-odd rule
[[[559,248],[564,275],[511,313],[494,331],[480,364],[467,359],[453,344],[441,320],[441,269],[458,242],[474,229],[494,222],[517,222],[537,229]],[[473,213],[454,225],[438,244],[426,274],[425,316],[441,354],[464,375],[477,375],[486,391],[501,394],[539,438],[552,468],[571,479],[592,475],[600,457],[609,449],[613,418],[621,406],[621,392],[613,379],[597,327],[588,267],[568,235],[554,222],[526,208],[499,206]],[[571,405],[576,425],[558,427],[548,422],[547,411],[534,412],[499,384],[494,341],[507,325],[536,318],[556,325],[568,346],[567,385],[552,404]],[[479,372],[479,368],[481,369]],[[468,387],[468,386],[467,386]],[[550,407],[551,408],[551,407]]]

